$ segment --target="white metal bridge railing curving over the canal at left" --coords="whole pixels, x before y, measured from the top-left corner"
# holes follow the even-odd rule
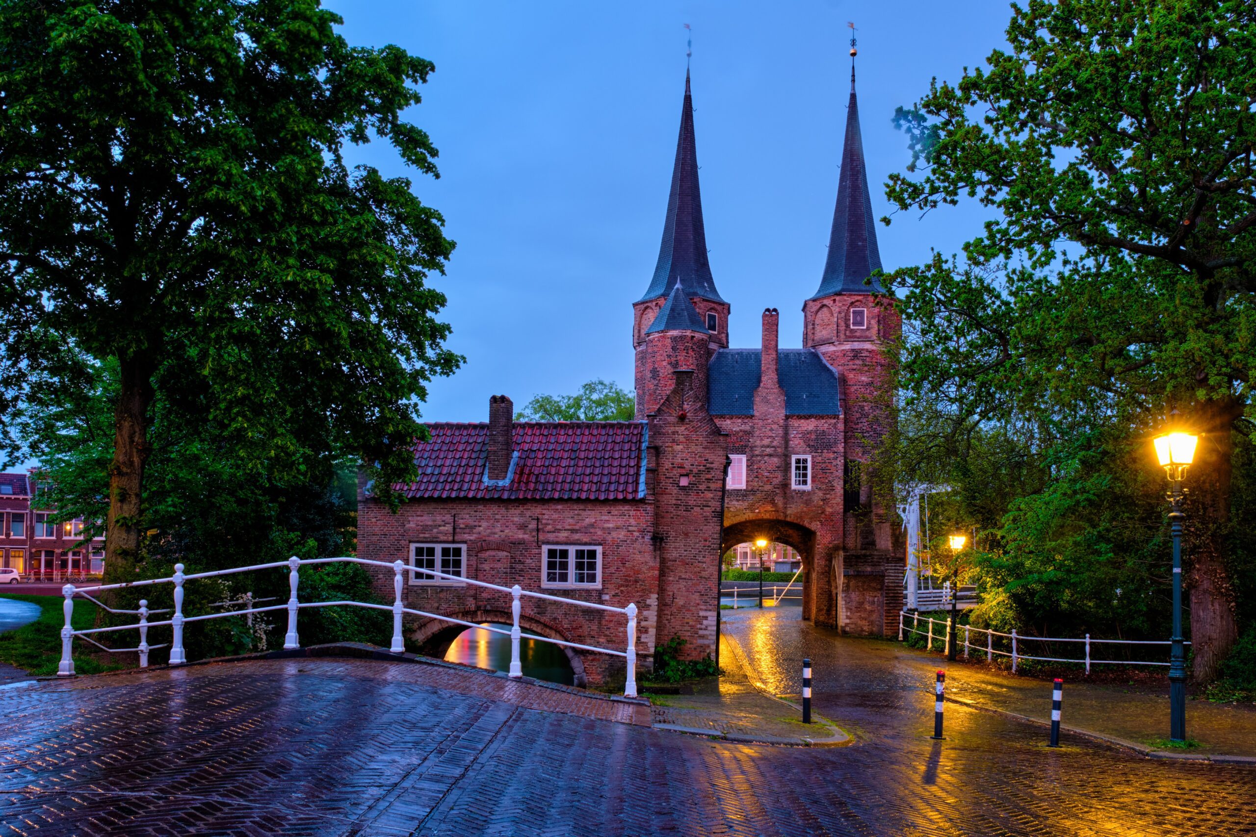
[[[392,605],[376,605],[364,601],[306,601],[301,602],[296,600],[296,587],[300,582],[300,567],[309,563],[364,563],[377,567],[387,567],[393,571],[393,591],[396,597]],[[270,605],[266,607],[255,607],[251,601],[246,601],[250,606],[245,610],[230,610],[220,614],[206,614],[201,616],[183,616],[183,582],[192,581],[196,578],[215,578],[220,576],[235,575],[239,572],[252,572],[256,570],[270,570],[275,567],[288,567],[288,586],[289,586],[289,599],[285,605]],[[486,587],[489,590],[499,590],[505,594],[510,594],[511,597],[511,615],[514,617],[514,624],[507,631],[501,627],[484,626],[475,622],[466,622],[461,619],[453,619],[451,616],[441,616],[440,614],[428,614],[422,610],[414,610],[412,607],[406,607],[402,604],[401,591],[402,591],[402,573],[412,572],[420,573],[425,578],[440,577],[448,578],[450,581],[458,581],[461,584],[475,585],[477,587]],[[175,609],[173,615],[170,619],[160,621],[148,621],[148,617],[153,614],[167,614],[170,610],[148,610],[147,600],[139,601],[138,610],[114,610],[107,605],[97,601],[89,592],[98,594],[104,590],[123,590],[127,587],[144,587],[152,585],[172,584],[175,585]],[[575,599],[564,599],[563,596],[550,596],[543,592],[534,592],[530,590],[524,590],[519,585],[512,587],[502,587],[500,585],[492,585],[486,581],[477,581],[475,578],[465,578],[462,576],[453,576],[446,572],[438,572],[436,570],[420,570],[416,567],[407,566],[403,561],[394,561],[387,563],[384,561],[368,561],[365,558],[353,558],[353,557],[340,557],[340,558],[289,558],[288,561],[275,561],[273,563],[259,563],[249,567],[232,567],[230,570],[216,570],[214,572],[195,572],[191,575],[183,573],[183,565],[175,565],[175,575],[168,578],[146,578],[143,581],[128,581],[124,584],[113,585],[98,585],[93,587],[75,587],[74,585],[65,585],[62,587],[62,594],[65,596],[65,604],[63,605],[63,611],[65,614],[65,626],[62,627],[62,661],[57,669],[58,676],[72,676],[74,674],[74,658],[73,658],[73,644],[74,637],[79,636],[93,645],[104,649],[106,651],[138,651],[139,653],[139,666],[146,668],[148,665],[148,653],[158,649],[166,648],[167,644],[161,645],[148,645],[148,629],[161,627],[168,625],[171,629],[171,641],[170,641],[170,664],[182,665],[187,663],[187,656],[183,653],[183,626],[188,622],[198,622],[207,619],[222,619],[226,616],[244,616],[251,614],[264,614],[273,610],[286,610],[288,611],[288,632],[284,635],[284,649],[298,649],[300,648],[300,640],[296,632],[296,614],[303,607],[332,607],[332,606],[353,606],[353,607],[369,607],[372,610],[387,610],[393,615],[393,635],[392,635],[392,648],[389,649],[393,654],[401,654],[406,650],[404,641],[402,639],[402,616],[404,614],[413,614],[414,616],[425,616],[428,619],[437,619],[453,625],[465,625],[466,627],[476,627],[484,631],[491,631],[494,634],[501,634],[510,637],[510,676],[521,678],[524,676],[522,663],[519,658],[519,640],[521,637],[530,640],[540,640],[541,642],[550,642],[553,645],[561,645],[565,648],[574,648],[582,651],[594,651],[597,654],[609,654],[612,656],[622,656],[627,663],[627,680],[624,683],[624,695],[628,698],[637,696],[637,605],[629,604],[627,607],[612,607],[609,605],[598,605],[588,601],[578,601]],[[92,627],[88,630],[74,630],[72,617],[74,615],[74,597],[83,596],[84,599],[104,607],[112,614],[136,614],[139,616],[139,621],[134,625],[117,625],[111,627]],[[522,596],[529,596],[531,599],[544,599],[546,601],[558,601],[565,605],[575,605],[578,607],[589,607],[593,610],[604,610],[614,614],[624,614],[628,617],[628,644],[623,651],[615,649],[597,648],[593,645],[580,645],[579,642],[568,642],[565,640],[555,640],[548,636],[538,636],[535,634],[522,634],[519,629],[519,616],[522,610],[520,599]],[[220,602],[221,604],[221,602]],[[139,644],[132,649],[114,649],[106,648],[100,645],[92,635],[106,634],[112,631],[127,631],[138,630],[139,631]]]

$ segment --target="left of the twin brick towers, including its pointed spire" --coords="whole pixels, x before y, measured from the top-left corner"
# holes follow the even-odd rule
[[[692,369],[692,390],[705,398],[710,354],[728,345],[728,304],[716,290],[707,261],[688,70],[663,241],[649,287],[633,304],[632,334],[638,419],[672,392],[676,369]]]

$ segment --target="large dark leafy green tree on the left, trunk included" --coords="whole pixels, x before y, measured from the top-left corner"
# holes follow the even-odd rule
[[[402,118],[432,65],[340,23],[317,0],[0,0],[0,429],[18,449],[34,385],[112,399],[111,577],[148,528],[158,402],[281,483],[343,456],[387,493],[425,381],[460,363],[426,284],[440,213],[345,161],[378,138],[437,174]]]

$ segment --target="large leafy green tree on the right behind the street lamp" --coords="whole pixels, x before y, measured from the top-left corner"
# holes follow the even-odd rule
[[[1237,634],[1233,434],[1253,427],[1256,6],[1030,0],[1007,39],[896,117],[913,163],[891,200],[990,211],[962,261],[897,277],[919,328],[903,381],[1060,438],[1149,435],[1173,408],[1203,433],[1187,580],[1194,674],[1211,678]]]

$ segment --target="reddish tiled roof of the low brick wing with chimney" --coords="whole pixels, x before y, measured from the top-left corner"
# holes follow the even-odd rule
[[[406,497],[639,499],[646,496],[644,422],[515,422],[509,479],[489,484],[486,423],[428,424],[414,445],[418,479]]]

